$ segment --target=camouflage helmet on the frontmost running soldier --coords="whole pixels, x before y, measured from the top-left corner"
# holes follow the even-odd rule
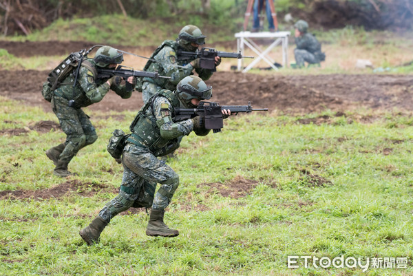
[[[212,86],[208,86],[199,76],[187,76],[176,86],[178,98],[186,104],[191,105],[193,98],[209,100],[212,97]]]

